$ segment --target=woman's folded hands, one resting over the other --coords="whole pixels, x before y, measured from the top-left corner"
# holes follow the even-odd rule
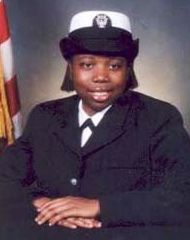
[[[39,198],[33,202],[39,212],[35,221],[41,225],[76,227],[101,227],[94,218],[100,213],[99,201],[80,197],[65,197],[51,200]]]

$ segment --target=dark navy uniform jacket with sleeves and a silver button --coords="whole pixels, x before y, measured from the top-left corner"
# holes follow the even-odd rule
[[[190,140],[176,108],[129,91],[81,149],[78,101],[34,108],[23,136],[2,155],[0,239],[152,240],[174,226],[188,234]],[[102,229],[35,224],[33,198],[68,195],[98,198]]]

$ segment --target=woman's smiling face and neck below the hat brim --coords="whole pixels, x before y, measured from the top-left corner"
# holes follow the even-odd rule
[[[70,71],[75,90],[89,115],[112,104],[123,93],[128,76],[125,58],[89,54],[75,55]]]

